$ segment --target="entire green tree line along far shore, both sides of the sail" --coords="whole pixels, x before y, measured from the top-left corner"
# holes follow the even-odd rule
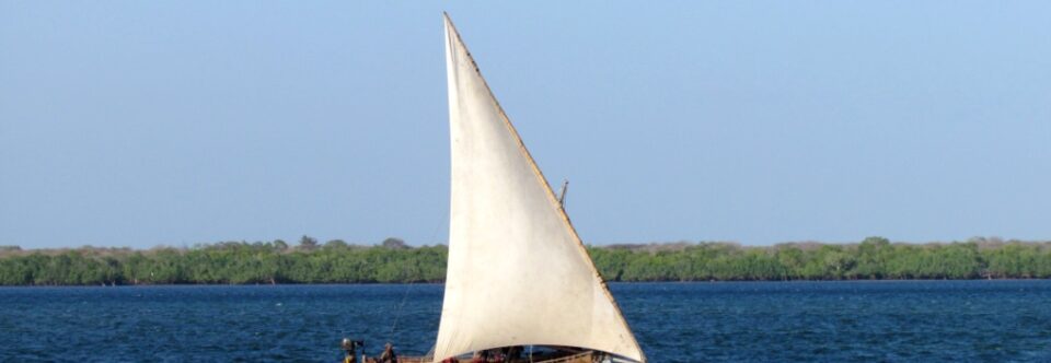
[[[609,281],[1051,278],[1051,242],[997,238],[917,245],[869,237],[770,247],[675,243],[589,251]],[[446,246],[409,247],[397,238],[359,246],[308,236],[294,247],[280,239],[149,250],[0,246],[0,285],[440,282],[446,254]]]

